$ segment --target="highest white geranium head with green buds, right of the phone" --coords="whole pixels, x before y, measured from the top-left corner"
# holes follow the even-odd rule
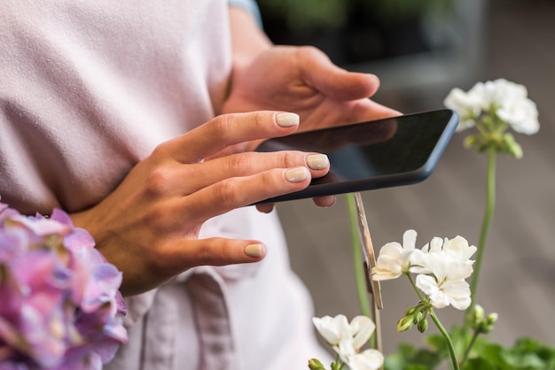
[[[458,131],[477,128],[478,134],[467,137],[465,145],[478,151],[494,148],[520,158],[519,144],[505,131],[511,127],[532,135],[540,128],[537,108],[526,87],[504,79],[478,82],[467,92],[452,89],[443,104],[460,116]]]

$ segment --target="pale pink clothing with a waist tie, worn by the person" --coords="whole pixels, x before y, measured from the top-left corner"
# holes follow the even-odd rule
[[[4,0],[0,25],[0,197],[21,212],[97,203],[222,104],[223,0]],[[275,213],[239,209],[209,220],[211,235],[260,239],[268,256],[128,298],[130,342],[106,368],[283,370],[323,356]]]

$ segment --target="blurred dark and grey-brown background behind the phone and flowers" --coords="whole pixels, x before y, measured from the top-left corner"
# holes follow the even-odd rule
[[[258,0],[272,41],[311,44],[353,71],[381,80],[374,100],[402,112],[442,108],[455,87],[505,78],[525,85],[538,106],[540,132],[515,135],[524,158],[498,157],[497,204],[477,303],[500,319],[491,334],[512,344],[531,335],[555,345],[555,1],[552,0]],[[456,134],[432,176],[417,185],[372,190],[363,199],[373,243],[418,246],[434,235],[477,244],[485,200],[486,158]],[[345,198],[330,209],[310,201],[278,204],[294,270],[318,316],[360,312]],[[407,281],[382,283],[385,352],[421,343],[396,322],[417,302]],[[453,308],[446,326],[462,322]],[[430,325],[432,328],[432,325]]]

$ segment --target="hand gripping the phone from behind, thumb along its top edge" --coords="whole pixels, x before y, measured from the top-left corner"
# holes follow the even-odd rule
[[[321,50],[273,46],[236,63],[222,112],[296,112],[302,131],[399,115],[369,99],[378,88],[375,75],[335,66]]]

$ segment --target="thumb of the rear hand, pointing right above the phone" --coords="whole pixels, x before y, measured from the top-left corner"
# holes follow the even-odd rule
[[[301,47],[297,53],[306,82],[325,96],[341,101],[356,100],[373,96],[379,89],[376,75],[348,72],[335,66],[321,50]]]

